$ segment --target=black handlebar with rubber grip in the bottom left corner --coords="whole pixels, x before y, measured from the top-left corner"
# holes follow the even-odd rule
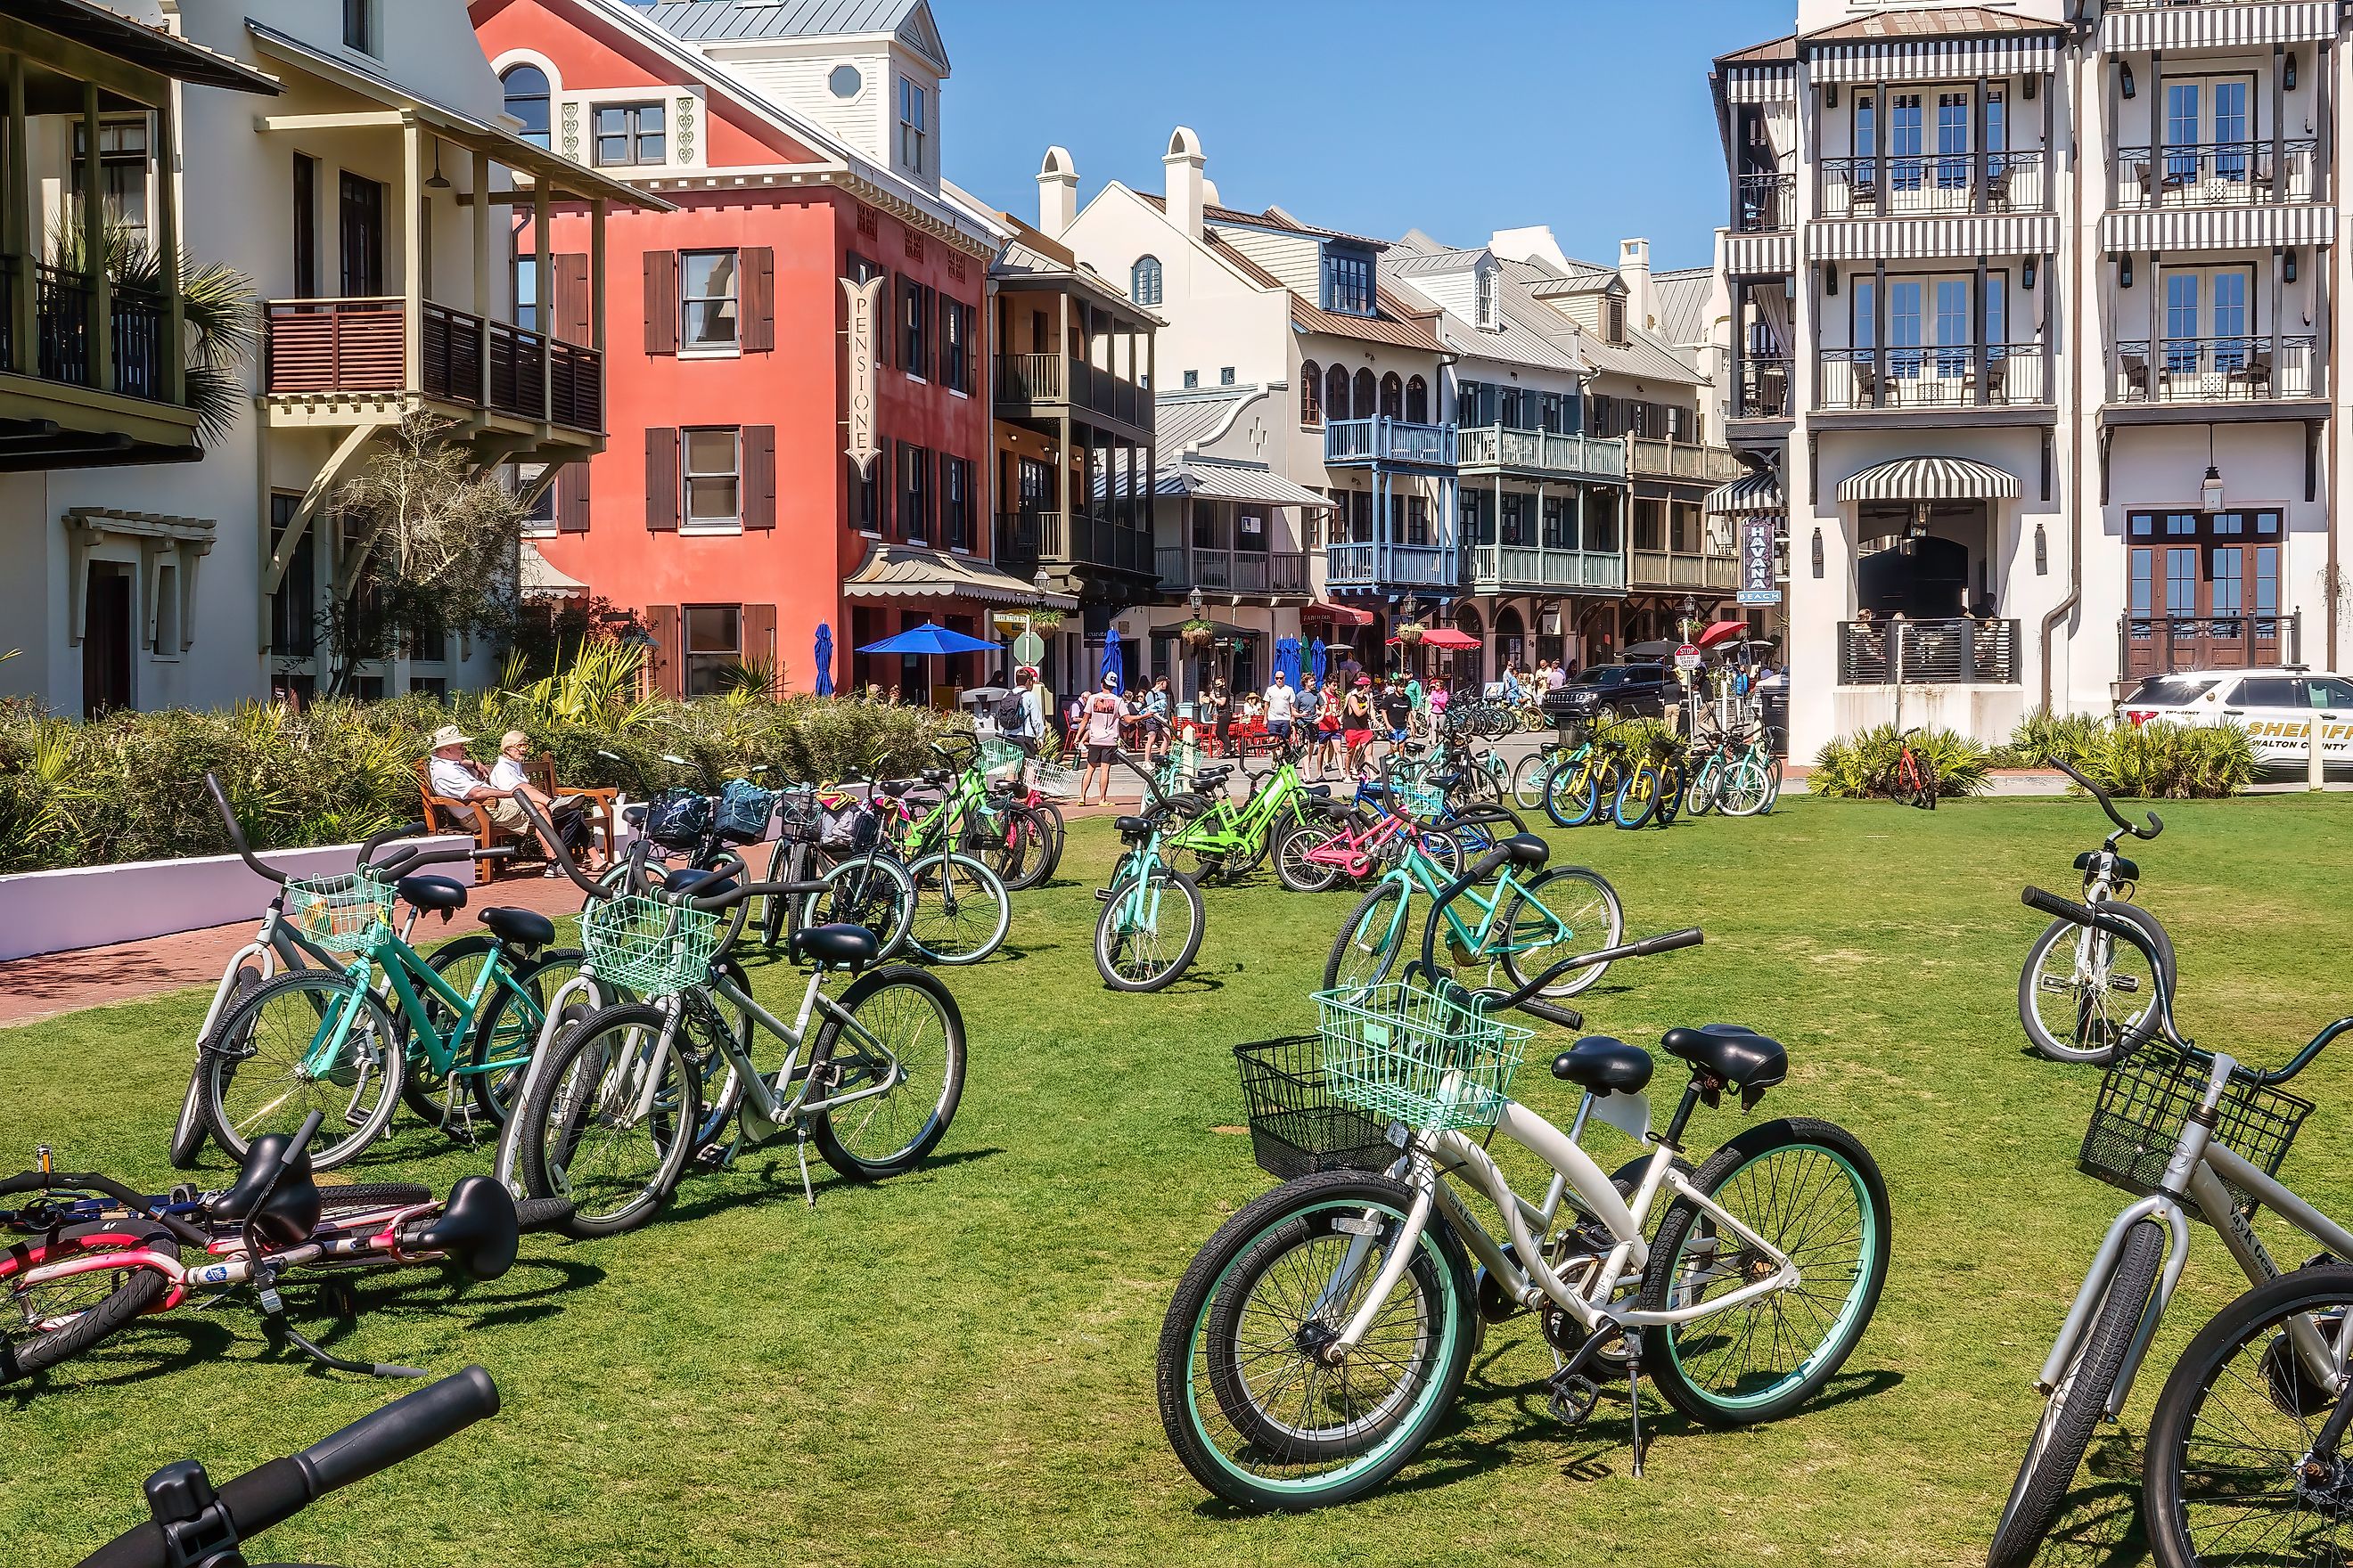
[[[254,1535],[496,1413],[499,1385],[468,1366],[219,1490],[195,1460],[165,1465],[146,1479],[148,1519],[85,1556],[80,1568],[242,1568],[240,1547]],[[202,1556],[191,1556],[191,1544]]]

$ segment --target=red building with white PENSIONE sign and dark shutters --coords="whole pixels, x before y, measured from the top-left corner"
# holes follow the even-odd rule
[[[736,665],[920,696],[976,656],[854,649],[1040,602],[991,562],[988,263],[941,188],[946,47],[922,0],[473,0],[508,113],[675,212],[614,219],[612,449],[546,559],[645,616],[664,691]],[[555,219],[579,249],[584,219]],[[562,275],[553,280],[560,308]],[[1052,595],[1068,604],[1066,595]]]

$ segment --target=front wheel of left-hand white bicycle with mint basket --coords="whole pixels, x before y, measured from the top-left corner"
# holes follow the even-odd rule
[[[694,1154],[701,1093],[668,1016],[647,1001],[600,1009],[555,1039],[522,1103],[522,1187],[569,1199],[567,1237],[614,1237],[661,1213]],[[640,1107],[647,1107],[640,1114]]]

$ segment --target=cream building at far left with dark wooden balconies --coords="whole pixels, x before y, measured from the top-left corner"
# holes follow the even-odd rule
[[[59,712],[308,691],[374,548],[334,498],[402,414],[482,473],[553,482],[602,444],[595,292],[584,270],[576,331],[518,324],[511,214],[631,197],[504,125],[454,7],[38,9],[9,24],[0,682]],[[249,282],[264,334],[221,428],[188,407],[172,268],[75,275],[96,247],[45,244],[59,226]],[[489,672],[461,635],[339,670],[362,696]]]

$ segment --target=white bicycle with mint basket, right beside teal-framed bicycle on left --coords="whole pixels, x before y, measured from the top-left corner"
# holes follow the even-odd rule
[[[569,856],[560,853],[558,865],[593,886]],[[631,994],[553,1039],[532,1070],[513,1133],[525,1192],[572,1201],[567,1234],[607,1237],[652,1220],[687,1159],[729,1119],[736,1135],[713,1164],[729,1168],[746,1145],[791,1131],[812,1204],[809,1143],[845,1180],[873,1182],[913,1171],[948,1133],[965,1093],[965,1018],[932,973],[878,966],[880,943],[866,926],[807,924],[788,938],[788,954],[809,966],[809,983],[798,1016],[784,1023],[725,961],[722,910],[824,886],[744,882],[706,891],[640,877],[631,893],[581,919],[581,973]],[[824,990],[835,971],[852,976],[840,999]],[[699,1009],[718,1027],[687,1030]],[[784,1046],[776,1067],[753,1060],[755,1032]]]

